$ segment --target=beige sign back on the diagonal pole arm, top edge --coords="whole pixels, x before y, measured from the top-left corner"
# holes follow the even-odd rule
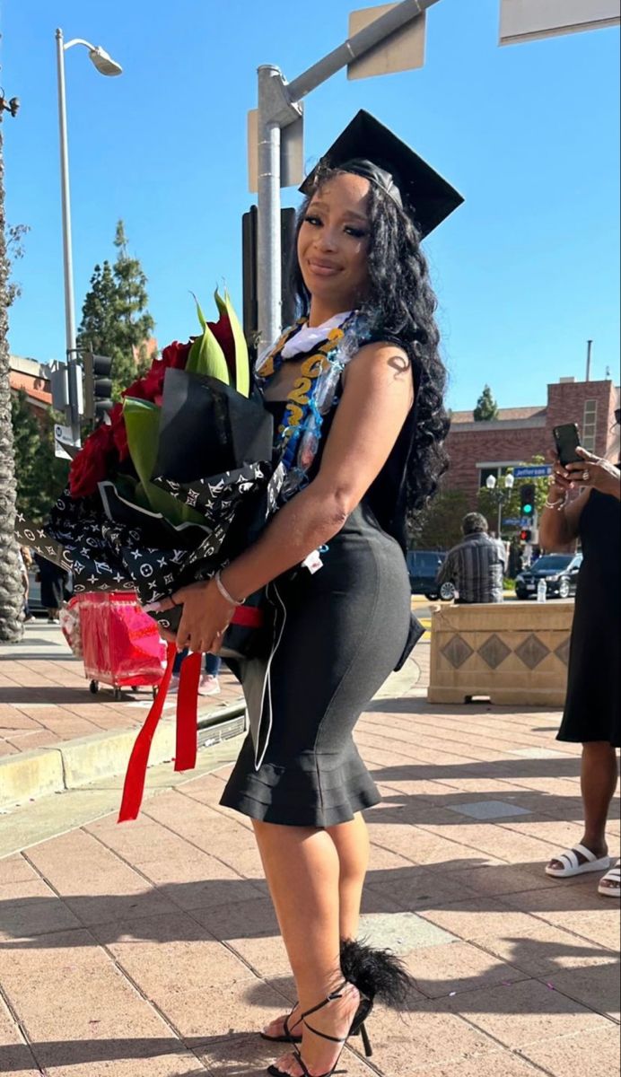
[[[364,8],[362,11],[350,12],[350,38],[396,6],[394,3],[385,3],[379,8]],[[390,38],[385,38],[375,48],[369,48],[364,56],[348,64],[348,79],[368,79],[375,74],[392,74],[395,71],[410,71],[423,67],[425,30],[426,12],[423,12],[418,18],[391,33]]]

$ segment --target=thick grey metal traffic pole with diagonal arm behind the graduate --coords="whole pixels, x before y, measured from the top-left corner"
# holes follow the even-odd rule
[[[390,38],[438,0],[401,0],[342,42],[292,83],[273,65],[258,69],[258,334],[259,349],[281,330],[280,132],[301,115],[300,100],[352,60]]]

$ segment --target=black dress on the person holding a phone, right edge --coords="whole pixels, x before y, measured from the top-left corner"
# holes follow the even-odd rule
[[[584,560],[571,629],[565,713],[559,740],[619,746],[621,513],[617,498],[594,490],[582,509]]]

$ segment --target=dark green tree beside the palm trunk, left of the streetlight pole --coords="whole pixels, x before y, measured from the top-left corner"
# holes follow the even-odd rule
[[[67,486],[69,461],[54,453],[53,412],[42,411],[37,417],[23,389],[11,404],[17,509],[34,523],[42,523]]]

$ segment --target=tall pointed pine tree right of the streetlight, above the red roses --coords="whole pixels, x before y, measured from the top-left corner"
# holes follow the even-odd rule
[[[79,347],[112,359],[112,394],[123,389],[146,366],[146,341],[155,322],[146,309],[146,277],[138,258],[129,255],[123,221],[116,225],[114,265],[96,265],[82,307]]]

